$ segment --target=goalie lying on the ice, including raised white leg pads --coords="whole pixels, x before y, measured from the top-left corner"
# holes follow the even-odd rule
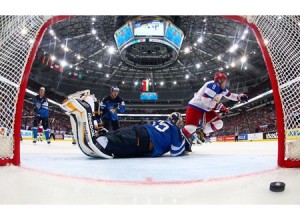
[[[72,131],[79,148],[88,156],[157,157],[167,152],[171,156],[180,156],[191,151],[191,144],[181,135],[183,121],[178,112],[170,114],[167,120],[159,120],[153,124],[98,133],[97,123],[93,119],[94,97],[89,90],[68,96],[62,108],[70,116]]]

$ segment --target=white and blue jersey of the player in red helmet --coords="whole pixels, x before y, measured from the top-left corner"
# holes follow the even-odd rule
[[[226,88],[222,89],[217,82],[212,80],[205,83],[201,89],[195,93],[194,98],[191,99],[188,105],[202,112],[208,112],[215,108],[223,96],[233,101],[239,101],[238,94],[231,93]]]

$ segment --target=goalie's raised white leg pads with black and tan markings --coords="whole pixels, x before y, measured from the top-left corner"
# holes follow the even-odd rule
[[[93,122],[94,99],[92,95],[68,96],[68,100],[62,104],[62,109],[70,116],[72,131],[80,150],[91,157],[112,158],[103,154],[93,143],[95,127]]]

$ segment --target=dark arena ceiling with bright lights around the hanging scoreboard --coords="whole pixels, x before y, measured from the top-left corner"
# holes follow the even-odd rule
[[[81,83],[87,87],[117,85],[124,91],[139,90],[141,81],[149,78],[155,90],[198,89],[216,71],[223,71],[229,74],[231,89],[237,91],[268,77],[256,38],[244,24],[220,16],[162,17],[185,34],[177,61],[164,68],[140,69],[122,62],[114,33],[134,16],[77,16],[64,20],[47,30],[39,49],[56,60],[65,60],[64,72],[81,70]],[[109,51],[112,48],[114,51]],[[241,60],[243,56],[245,60]],[[74,79],[68,80],[74,84]]]

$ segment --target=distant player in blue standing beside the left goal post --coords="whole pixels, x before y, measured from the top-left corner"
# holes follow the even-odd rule
[[[42,126],[44,128],[45,137],[47,143],[50,144],[50,129],[48,128],[48,99],[45,96],[45,88],[41,87],[39,90],[39,95],[34,97],[34,120],[33,120],[33,143],[36,143],[38,136],[38,126],[42,121]]]

